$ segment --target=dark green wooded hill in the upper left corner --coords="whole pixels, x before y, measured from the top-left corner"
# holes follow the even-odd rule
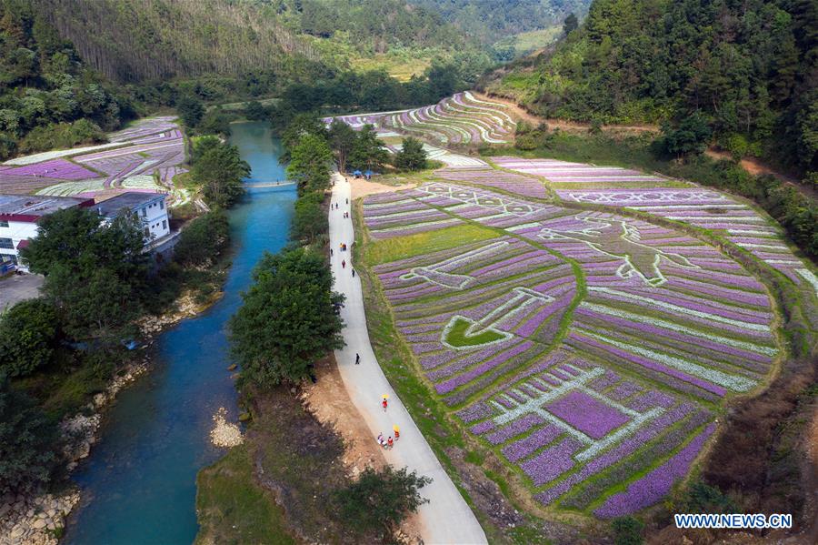
[[[105,137],[131,101],[20,0],[0,0],[0,160]]]

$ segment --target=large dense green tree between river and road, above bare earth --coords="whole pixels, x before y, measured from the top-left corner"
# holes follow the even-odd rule
[[[242,378],[266,386],[309,377],[317,358],[344,346],[344,296],[332,291],[324,257],[303,247],[267,253],[253,278],[229,326]]]

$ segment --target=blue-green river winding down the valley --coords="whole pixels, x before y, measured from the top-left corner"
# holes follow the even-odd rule
[[[253,168],[247,181],[284,179],[281,149],[261,122],[232,125],[230,140]],[[198,530],[195,478],[224,454],[209,442],[217,409],[236,419],[225,326],[265,250],[287,241],[293,186],[250,189],[230,211],[234,260],[224,297],[204,314],[156,338],[155,368],[120,392],[100,440],[76,470],[80,505],[66,529],[70,545],[189,544]]]

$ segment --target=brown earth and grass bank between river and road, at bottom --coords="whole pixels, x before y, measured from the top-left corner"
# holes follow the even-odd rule
[[[198,544],[354,542],[327,505],[364,469],[383,469],[374,441],[349,398],[332,356],[314,383],[253,390],[244,444],[197,478]],[[396,537],[421,543],[416,515]]]

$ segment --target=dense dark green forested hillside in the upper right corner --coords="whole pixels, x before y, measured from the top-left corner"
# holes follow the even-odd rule
[[[818,170],[813,0],[595,0],[553,54],[485,86],[544,116],[600,123],[699,111],[701,128],[737,156]]]

